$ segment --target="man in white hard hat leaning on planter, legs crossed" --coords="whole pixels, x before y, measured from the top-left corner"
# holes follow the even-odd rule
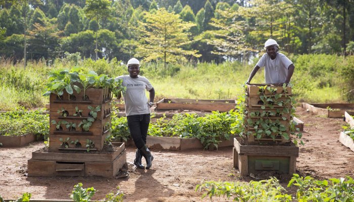
[[[150,81],[144,76],[140,76],[140,62],[132,58],[128,61],[128,75],[118,76],[117,79],[122,79],[122,85],[126,87],[126,92],[123,93],[125,114],[128,121],[130,135],[137,146],[136,158],[134,165],[144,169],[142,157],[146,159],[146,169],[152,166],[152,156],[149,148],[146,146],[146,137],[150,124],[150,108],[154,104],[155,90]],[[149,101],[145,91],[149,91]]]

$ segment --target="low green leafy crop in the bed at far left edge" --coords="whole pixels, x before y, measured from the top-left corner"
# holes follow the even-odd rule
[[[0,135],[20,136],[33,133],[47,138],[49,135],[49,114],[43,110],[27,111],[18,108],[15,111],[0,113]]]

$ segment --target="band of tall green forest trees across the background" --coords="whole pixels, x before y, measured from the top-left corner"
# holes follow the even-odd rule
[[[74,53],[123,62],[247,62],[264,53],[268,38],[288,54],[348,55],[353,2],[2,0],[0,56],[48,63]]]

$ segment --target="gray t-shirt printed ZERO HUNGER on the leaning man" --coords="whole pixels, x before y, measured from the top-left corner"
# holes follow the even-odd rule
[[[123,79],[123,86],[126,86],[126,92],[123,93],[126,116],[138,114],[150,114],[148,107],[148,98],[145,90],[151,90],[150,81],[144,76],[131,78],[129,75],[118,76],[116,79]]]

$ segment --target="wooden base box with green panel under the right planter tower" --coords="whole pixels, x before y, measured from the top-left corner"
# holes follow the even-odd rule
[[[297,146],[242,145],[236,138],[233,148],[233,166],[241,176],[263,171],[292,175],[296,171]]]

